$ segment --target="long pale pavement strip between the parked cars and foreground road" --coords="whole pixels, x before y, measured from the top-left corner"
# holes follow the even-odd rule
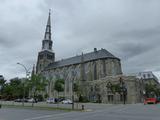
[[[1,101],[2,106],[17,106],[23,107],[22,102],[14,102],[14,101]],[[83,105],[83,108],[82,108]],[[122,106],[123,104],[103,104],[103,103],[74,103],[75,110],[83,110],[84,111],[95,111],[95,110],[103,110],[106,108],[114,107],[114,106]],[[127,106],[127,105],[126,105]],[[24,103],[24,107],[32,108],[32,103]],[[72,104],[47,104],[46,102],[38,102],[33,104],[33,108],[48,108],[48,109],[64,109],[64,110],[72,110]]]

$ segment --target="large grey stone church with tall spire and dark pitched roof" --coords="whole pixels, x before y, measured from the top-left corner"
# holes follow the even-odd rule
[[[49,97],[57,97],[54,90],[54,82],[64,79],[63,96],[72,98],[73,84],[81,88],[81,95],[89,101],[100,100],[103,103],[120,101],[121,96],[108,93],[108,83],[118,83],[123,78],[127,87],[128,103],[140,102],[141,89],[137,88],[141,83],[134,76],[122,75],[121,61],[106,49],[96,49],[89,53],[82,53],[67,59],[55,60],[51,38],[51,15],[49,13],[42,49],[38,53],[36,73],[40,73],[49,80],[47,94]],[[64,48],[65,49],[65,48]],[[66,48],[67,49],[67,48]],[[137,85],[138,84],[138,85]]]

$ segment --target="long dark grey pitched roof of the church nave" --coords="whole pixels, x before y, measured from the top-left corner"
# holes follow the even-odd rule
[[[49,64],[46,69],[63,67],[63,66],[68,66],[68,65],[73,65],[73,64],[80,64],[82,62],[88,62],[88,61],[93,61],[93,60],[97,60],[97,59],[104,59],[104,58],[113,58],[113,59],[120,60],[119,58],[115,57],[107,50],[101,49],[101,50],[95,50],[93,52],[86,53],[83,55],[74,56],[71,58],[67,58],[67,59],[53,62],[53,63]]]

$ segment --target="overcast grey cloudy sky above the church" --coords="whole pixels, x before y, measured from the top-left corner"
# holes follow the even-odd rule
[[[56,60],[105,48],[123,73],[160,71],[159,0],[0,0],[0,74],[31,70],[52,9]]]

